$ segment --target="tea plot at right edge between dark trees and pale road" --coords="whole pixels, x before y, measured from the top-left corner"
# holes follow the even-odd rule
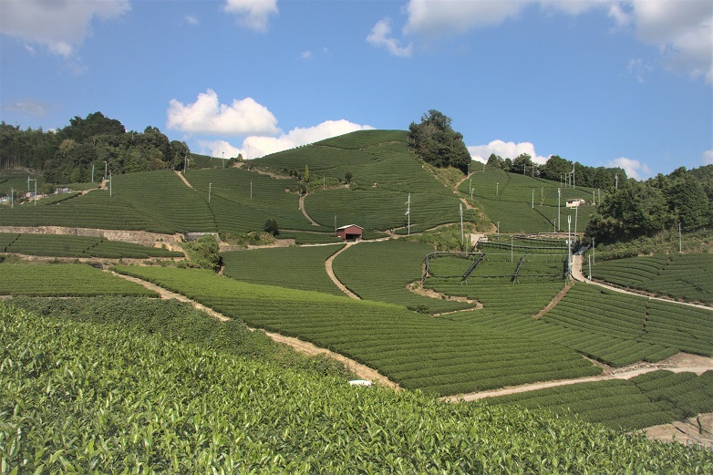
[[[612,284],[688,302],[713,304],[713,254],[630,257],[596,263],[592,276]]]

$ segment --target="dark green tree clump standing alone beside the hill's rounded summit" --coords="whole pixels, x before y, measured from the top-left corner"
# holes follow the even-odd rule
[[[451,119],[431,109],[419,124],[408,126],[408,148],[435,167],[454,167],[468,172],[470,153],[463,136],[450,126]]]

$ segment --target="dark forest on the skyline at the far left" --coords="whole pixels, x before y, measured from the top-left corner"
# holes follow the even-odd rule
[[[0,123],[0,169],[26,168],[49,183],[91,181],[112,173],[180,168],[191,152],[185,142],[169,139],[155,127],[129,131],[101,112],[75,117],[57,131],[20,129]]]

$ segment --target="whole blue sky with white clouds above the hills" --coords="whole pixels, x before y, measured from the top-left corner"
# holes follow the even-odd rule
[[[1,0],[0,119],[248,158],[452,119],[479,160],[713,163],[710,0]]]

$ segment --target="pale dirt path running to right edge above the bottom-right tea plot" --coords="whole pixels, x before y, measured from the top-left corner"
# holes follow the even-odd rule
[[[595,381],[606,381],[609,379],[630,379],[632,377],[650,373],[659,369],[666,369],[674,373],[696,373],[702,375],[706,371],[713,370],[713,358],[705,356],[689,355],[687,353],[679,353],[676,356],[661,361],[659,363],[638,363],[630,367],[622,367],[605,372],[600,376],[593,377],[575,377],[573,379],[560,379],[555,381],[542,381],[539,383],[526,384],[514,387],[502,387],[501,389],[492,389],[490,391],[480,391],[458,396],[448,396],[441,398],[449,402],[456,401],[474,401],[484,398],[494,398],[496,396],[506,396],[509,394],[523,393],[527,391],[536,391],[546,387],[568,386],[580,383],[592,383]]]

